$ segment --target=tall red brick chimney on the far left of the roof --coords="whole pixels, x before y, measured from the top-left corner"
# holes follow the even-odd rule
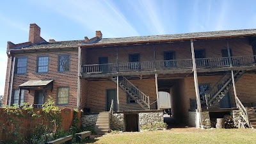
[[[40,37],[40,31],[41,31],[41,28],[39,26],[37,26],[35,23],[30,24],[30,26],[29,26],[29,42],[31,42],[32,44],[41,42],[42,39]]]

